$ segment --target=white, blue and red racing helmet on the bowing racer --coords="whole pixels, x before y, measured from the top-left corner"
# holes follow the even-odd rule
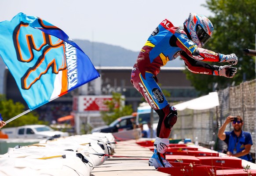
[[[184,28],[190,34],[191,39],[198,47],[202,47],[212,37],[212,22],[204,15],[190,13],[185,20]]]

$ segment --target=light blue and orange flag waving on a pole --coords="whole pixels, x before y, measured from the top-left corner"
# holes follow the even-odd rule
[[[65,32],[23,13],[0,22],[0,55],[30,110],[99,77]]]

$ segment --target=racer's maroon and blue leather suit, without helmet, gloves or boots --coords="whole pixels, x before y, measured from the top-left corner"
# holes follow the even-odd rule
[[[152,32],[132,68],[131,83],[157,112],[160,119],[157,137],[168,138],[177,120],[177,111],[170,107],[157,84],[160,68],[180,56],[193,73],[219,75],[218,66],[203,61],[219,62],[221,54],[197,47],[186,32],[163,20]]]

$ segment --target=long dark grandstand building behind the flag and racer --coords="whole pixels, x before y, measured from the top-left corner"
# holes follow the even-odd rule
[[[130,82],[132,67],[95,67],[100,77],[95,79],[76,90],[73,90],[66,95],[55,99],[43,106],[37,108],[40,115],[40,120],[57,121],[58,118],[69,115],[72,111],[72,103],[74,95],[111,95],[112,92],[119,92],[125,97],[125,104],[132,105],[134,111],[142,103],[142,95],[135,90]],[[163,91],[168,91],[170,97],[167,97],[169,102],[186,101],[198,97],[197,91],[191,86],[189,80],[183,72],[185,68],[161,68],[161,73],[157,75],[158,83]],[[22,102],[21,93],[15,83],[14,78],[8,69],[4,72],[4,94],[7,99],[12,99],[14,102]],[[171,103],[172,104],[172,103]]]

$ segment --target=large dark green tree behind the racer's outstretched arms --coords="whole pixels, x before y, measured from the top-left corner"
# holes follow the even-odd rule
[[[223,89],[233,82],[238,85],[243,81],[255,79],[254,57],[243,53],[245,48],[255,48],[256,34],[256,0],[206,0],[206,5],[214,17],[208,17],[213,26],[212,39],[204,46],[222,54],[235,53],[238,56],[238,72],[234,78],[223,76],[194,74],[185,71],[187,79],[201,94],[212,91],[213,83]],[[228,63],[210,63],[211,65],[227,65]]]

